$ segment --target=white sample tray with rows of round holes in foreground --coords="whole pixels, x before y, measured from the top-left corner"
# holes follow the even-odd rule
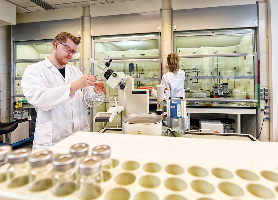
[[[90,149],[99,144],[111,146],[113,176],[104,182],[104,192],[96,199],[278,199],[277,161],[267,156],[277,152],[276,142],[77,132],[50,150],[68,153],[79,142],[88,143]],[[30,192],[27,186],[11,189],[4,182],[0,197],[78,199],[77,192],[58,197],[51,189]]]

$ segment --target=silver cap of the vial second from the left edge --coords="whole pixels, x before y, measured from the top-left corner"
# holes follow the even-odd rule
[[[28,156],[32,151],[31,148],[15,149],[7,154],[8,162],[11,164],[21,163],[28,160]]]

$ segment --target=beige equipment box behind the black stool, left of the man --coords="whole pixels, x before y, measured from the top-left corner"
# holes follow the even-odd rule
[[[10,144],[14,144],[29,137],[29,121],[19,122],[18,127],[9,133]],[[6,134],[4,134],[6,142]]]

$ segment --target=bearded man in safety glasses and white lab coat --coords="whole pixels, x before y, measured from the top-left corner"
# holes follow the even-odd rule
[[[59,33],[51,55],[29,65],[23,74],[24,96],[37,111],[33,147],[47,149],[76,131],[89,131],[84,92],[92,85],[105,92],[105,86],[68,64],[80,42],[70,33]]]

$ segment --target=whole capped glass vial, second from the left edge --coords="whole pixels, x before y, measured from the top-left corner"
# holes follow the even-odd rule
[[[7,186],[19,187],[28,183],[30,170],[28,156],[31,151],[31,148],[20,148],[7,154],[8,163],[11,164],[6,173]]]

